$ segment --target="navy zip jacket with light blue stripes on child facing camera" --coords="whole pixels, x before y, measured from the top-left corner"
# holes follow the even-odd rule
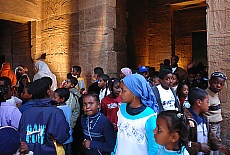
[[[85,149],[86,155],[110,155],[113,152],[116,144],[114,129],[104,114],[98,112],[95,116],[84,115],[81,125],[84,139],[90,140],[90,149]]]

